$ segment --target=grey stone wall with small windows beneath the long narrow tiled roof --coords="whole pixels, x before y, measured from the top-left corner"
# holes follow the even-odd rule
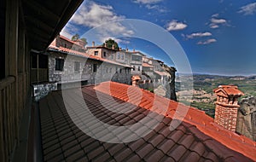
[[[55,70],[55,59],[65,60],[63,71]],[[75,71],[75,62],[79,62],[79,71]],[[96,84],[110,80],[131,84],[131,68],[77,55],[68,55],[67,58],[61,52],[49,52],[49,82],[68,84],[83,81],[86,84]]]

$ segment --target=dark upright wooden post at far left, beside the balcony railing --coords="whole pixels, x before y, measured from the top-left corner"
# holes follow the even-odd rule
[[[14,151],[15,139],[18,138],[18,28],[19,28],[19,1],[6,1],[6,36],[5,36],[5,75],[14,76],[15,83],[9,89],[8,97],[6,98],[8,113],[7,132],[5,135],[6,148],[9,150],[6,154],[6,160],[10,160],[10,155]]]

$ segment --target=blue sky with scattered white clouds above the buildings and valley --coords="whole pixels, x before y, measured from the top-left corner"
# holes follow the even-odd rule
[[[188,57],[192,72],[256,74],[256,1],[85,0],[61,34],[71,38],[79,33],[86,36],[90,45],[92,41],[101,44],[107,38],[114,38],[108,35],[114,33],[121,37],[114,39],[123,49],[141,50],[177,66],[163,49],[136,38],[136,29],[118,21],[124,19],[146,20],[171,33]],[[97,26],[101,26],[97,34],[84,34]],[[145,32],[161,39],[147,27]]]

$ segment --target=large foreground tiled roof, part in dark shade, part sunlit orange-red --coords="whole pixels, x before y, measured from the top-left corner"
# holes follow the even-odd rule
[[[213,119],[204,112],[187,107],[176,101],[154,95],[148,90],[141,90],[141,101],[136,104],[135,87],[126,84],[105,82],[82,88],[84,103],[97,119],[106,124],[136,124],[150,115],[148,123],[162,116],[159,123],[148,135],[133,142],[109,143],[101,142],[86,134],[73,123],[84,123],[79,115],[83,115],[81,101],[78,100],[81,89],[68,90],[68,99],[73,103],[72,118],[67,113],[61,91],[50,93],[39,102],[41,132],[45,161],[255,161],[255,142],[245,136],[239,136],[213,123]],[[136,89],[136,88],[135,88]],[[131,93],[128,93],[130,91]],[[133,93],[132,93],[133,92]],[[100,98],[99,98],[100,96]],[[112,97],[109,97],[112,96]],[[114,99],[114,100],[113,100]],[[104,101],[104,104],[102,104]],[[155,105],[156,103],[156,105]],[[131,108],[129,113],[114,113],[106,105],[120,112]],[[137,106],[136,106],[137,105]],[[162,107],[168,107],[163,111]],[[177,109],[177,107],[179,107]],[[174,113],[187,109],[181,124],[170,130]],[[111,134],[108,129],[99,130],[99,123],[89,123],[90,131],[98,136]],[[138,127],[137,132],[145,131],[150,125]],[[129,130],[127,130],[129,131]],[[119,136],[125,135],[120,132]]]

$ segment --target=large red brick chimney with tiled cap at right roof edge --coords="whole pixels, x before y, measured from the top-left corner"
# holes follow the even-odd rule
[[[213,92],[217,95],[214,122],[235,132],[238,98],[244,94],[235,85],[219,85]]]

